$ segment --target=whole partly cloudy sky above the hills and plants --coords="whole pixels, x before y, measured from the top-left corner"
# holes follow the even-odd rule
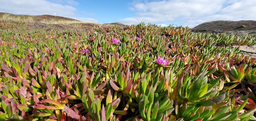
[[[189,27],[214,20],[256,20],[255,6],[256,0],[0,0],[0,12],[12,14]]]

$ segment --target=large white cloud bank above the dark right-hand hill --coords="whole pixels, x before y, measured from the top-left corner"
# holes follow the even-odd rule
[[[255,0],[158,0],[135,2],[134,17],[119,20],[124,24],[176,23],[193,27],[212,20],[256,20]]]

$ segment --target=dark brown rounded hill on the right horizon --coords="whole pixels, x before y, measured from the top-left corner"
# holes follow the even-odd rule
[[[247,32],[247,34],[256,34],[256,21],[212,21],[199,24],[191,29],[193,32],[215,33],[215,32]]]

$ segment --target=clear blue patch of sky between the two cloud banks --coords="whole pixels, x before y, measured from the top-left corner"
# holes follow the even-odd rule
[[[114,23],[117,20],[133,16],[134,12],[128,9],[132,0],[50,0],[53,3],[67,4],[77,9],[78,17],[89,17],[99,23]],[[72,1],[72,2],[71,2]]]

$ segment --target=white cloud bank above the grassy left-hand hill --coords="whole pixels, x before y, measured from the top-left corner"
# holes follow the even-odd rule
[[[58,3],[60,1],[69,5]],[[57,0],[56,3],[48,0],[0,0],[0,12],[26,15],[54,15],[54,13],[56,13],[57,16],[61,17],[70,17],[84,21],[97,21],[92,18],[77,17],[77,9],[70,5],[78,5],[78,3],[74,0]]]

